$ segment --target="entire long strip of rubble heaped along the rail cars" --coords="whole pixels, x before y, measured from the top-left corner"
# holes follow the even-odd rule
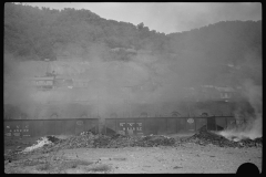
[[[125,136],[121,134],[114,134],[112,136],[108,136],[102,134],[93,134],[91,132],[83,132],[78,136],[71,136],[65,139],[61,139],[55,136],[45,136],[38,139],[37,144],[27,147],[20,153],[49,153],[73,148],[176,146],[185,143],[195,143],[201,146],[213,144],[219,147],[258,147],[262,146],[262,137],[256,139],[242,139],[239,142],[229,140],[222,135],[207,131],[206,126],[203,126],[195,135],[185,139],[180,139],[180,142],[163,135]],[[6,157],[7,159],[10,159],[8,155]]]

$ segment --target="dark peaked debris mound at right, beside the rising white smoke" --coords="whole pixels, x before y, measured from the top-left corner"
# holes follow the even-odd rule
[[[182,139],[181,143],[195,143],[200,145],[213,144],[219,147],[257,147],[262,146],[263,138],[260,137],[256,139],[242,139],[239,142],[234,142],[225,138],[222,135],[209,132],[207,131],[206,126],[203,126],[195,135],[186,139]]]

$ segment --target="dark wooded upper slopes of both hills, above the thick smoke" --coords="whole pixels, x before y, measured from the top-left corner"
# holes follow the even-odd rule
[[[226,21],[164,34],[143,23],[134,25],[106,20],[90,10],[59,11],[4,4],[4,52],[20,61],[57,60],[59,56],[88,59],[95,51],[96,59],[103,61],[134,58],[123,52],[110,54],[111,49],[117,48],[132,49],[136,54],[149,51],[158,61],[167,63],[171,71],[190,77],[192,82],[212,83],[238,73],[242,76],[249,74],[262,83],[258,73],[262,21]],[[250,63],[255,66],[252,67]]]

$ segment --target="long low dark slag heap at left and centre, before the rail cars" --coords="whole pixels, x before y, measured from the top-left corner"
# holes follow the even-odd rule
[[[52,137],[52,138],[51,138]],[[47,139],[47,138],[45,138]],[[72,136],[66,139],[59,139],[54,136],[49,138],[51,143],[45,143],[41,148],[34,150],[52,152],[59,149],[72,148],[121,148],[121,147],[154,147],[173,146],[175,139],[163,135],[149,135],[140,137],[124,136],[115,134],[112,136],[93,134],[84,132],[79,136]]]

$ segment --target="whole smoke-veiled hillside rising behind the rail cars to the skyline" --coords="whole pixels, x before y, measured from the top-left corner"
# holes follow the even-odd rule
[[[38,93],[24,83],[51,72],[89,86]],[[34,110],[35,103],[79,100],[93,105],[94,114],[99,105],[111,112],[104,103],[126,112],[130,103],[182,101],[184,87],[246,83],[262,86],[262,21],[223,21],[164,34],[89,10],[4,4],[7,104]]]

